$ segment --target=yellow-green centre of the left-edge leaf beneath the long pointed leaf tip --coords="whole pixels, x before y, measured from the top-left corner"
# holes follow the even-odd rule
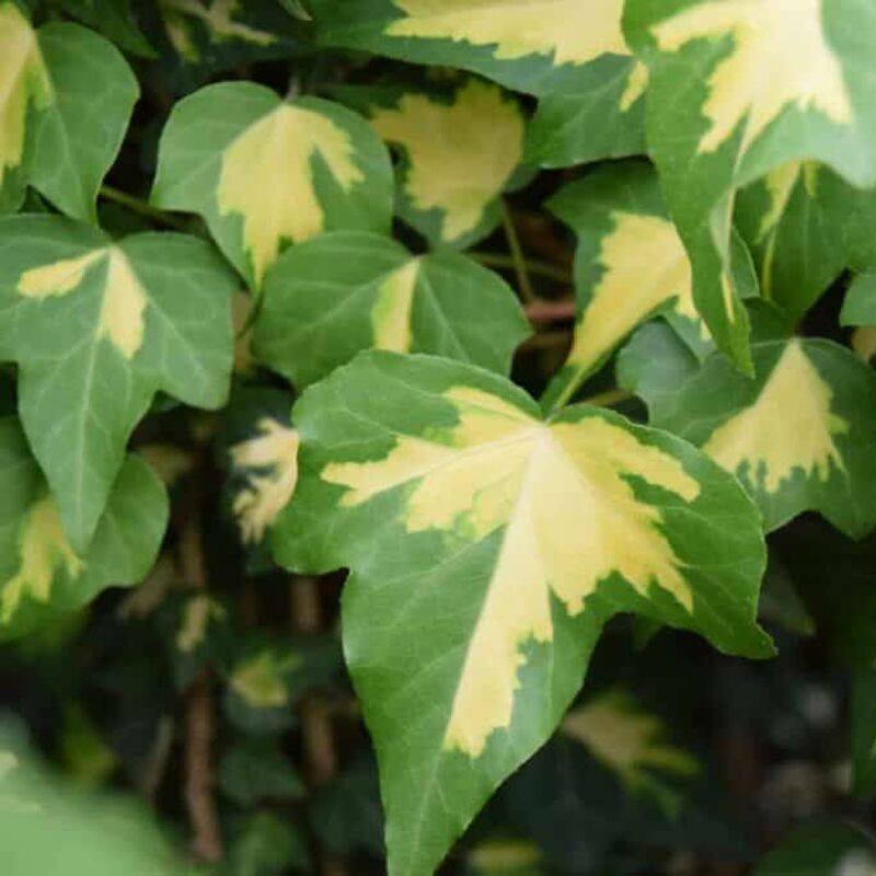
[[[47,496],[25,515],[19,534],[19,569],[2,588],[0,623],[9,623],[22,600],[48,602],[58,572],[77,578],[84,568],[67,541],[55,500]]]

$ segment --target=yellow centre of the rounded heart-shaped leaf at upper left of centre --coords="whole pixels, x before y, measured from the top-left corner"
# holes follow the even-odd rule
[[[296,243],[324,230],[313,178],[315,155],[345,191],[365,178],[343,128],[320,113],[289,104],[246,128],[222,155],[219,210],[243,217],[243,246],[256,285],[284,241]]]

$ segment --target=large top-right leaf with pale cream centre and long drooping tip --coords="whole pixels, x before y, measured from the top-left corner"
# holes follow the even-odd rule
[[[800,160],[854,185],[876,182],[876,9],[858,0],[630,0],[624,30],[649,69],[649,151],[691,256],[694,300],[718,347],[750,373],[729,269],[735,189]]]

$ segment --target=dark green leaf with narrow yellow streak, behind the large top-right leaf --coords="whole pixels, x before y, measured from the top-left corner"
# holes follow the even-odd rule
[[[758,267],[763,297],[796,324],[845,265],[841,229],[849,187],[826,168],[794,161],[744,188],[738,228]]]

